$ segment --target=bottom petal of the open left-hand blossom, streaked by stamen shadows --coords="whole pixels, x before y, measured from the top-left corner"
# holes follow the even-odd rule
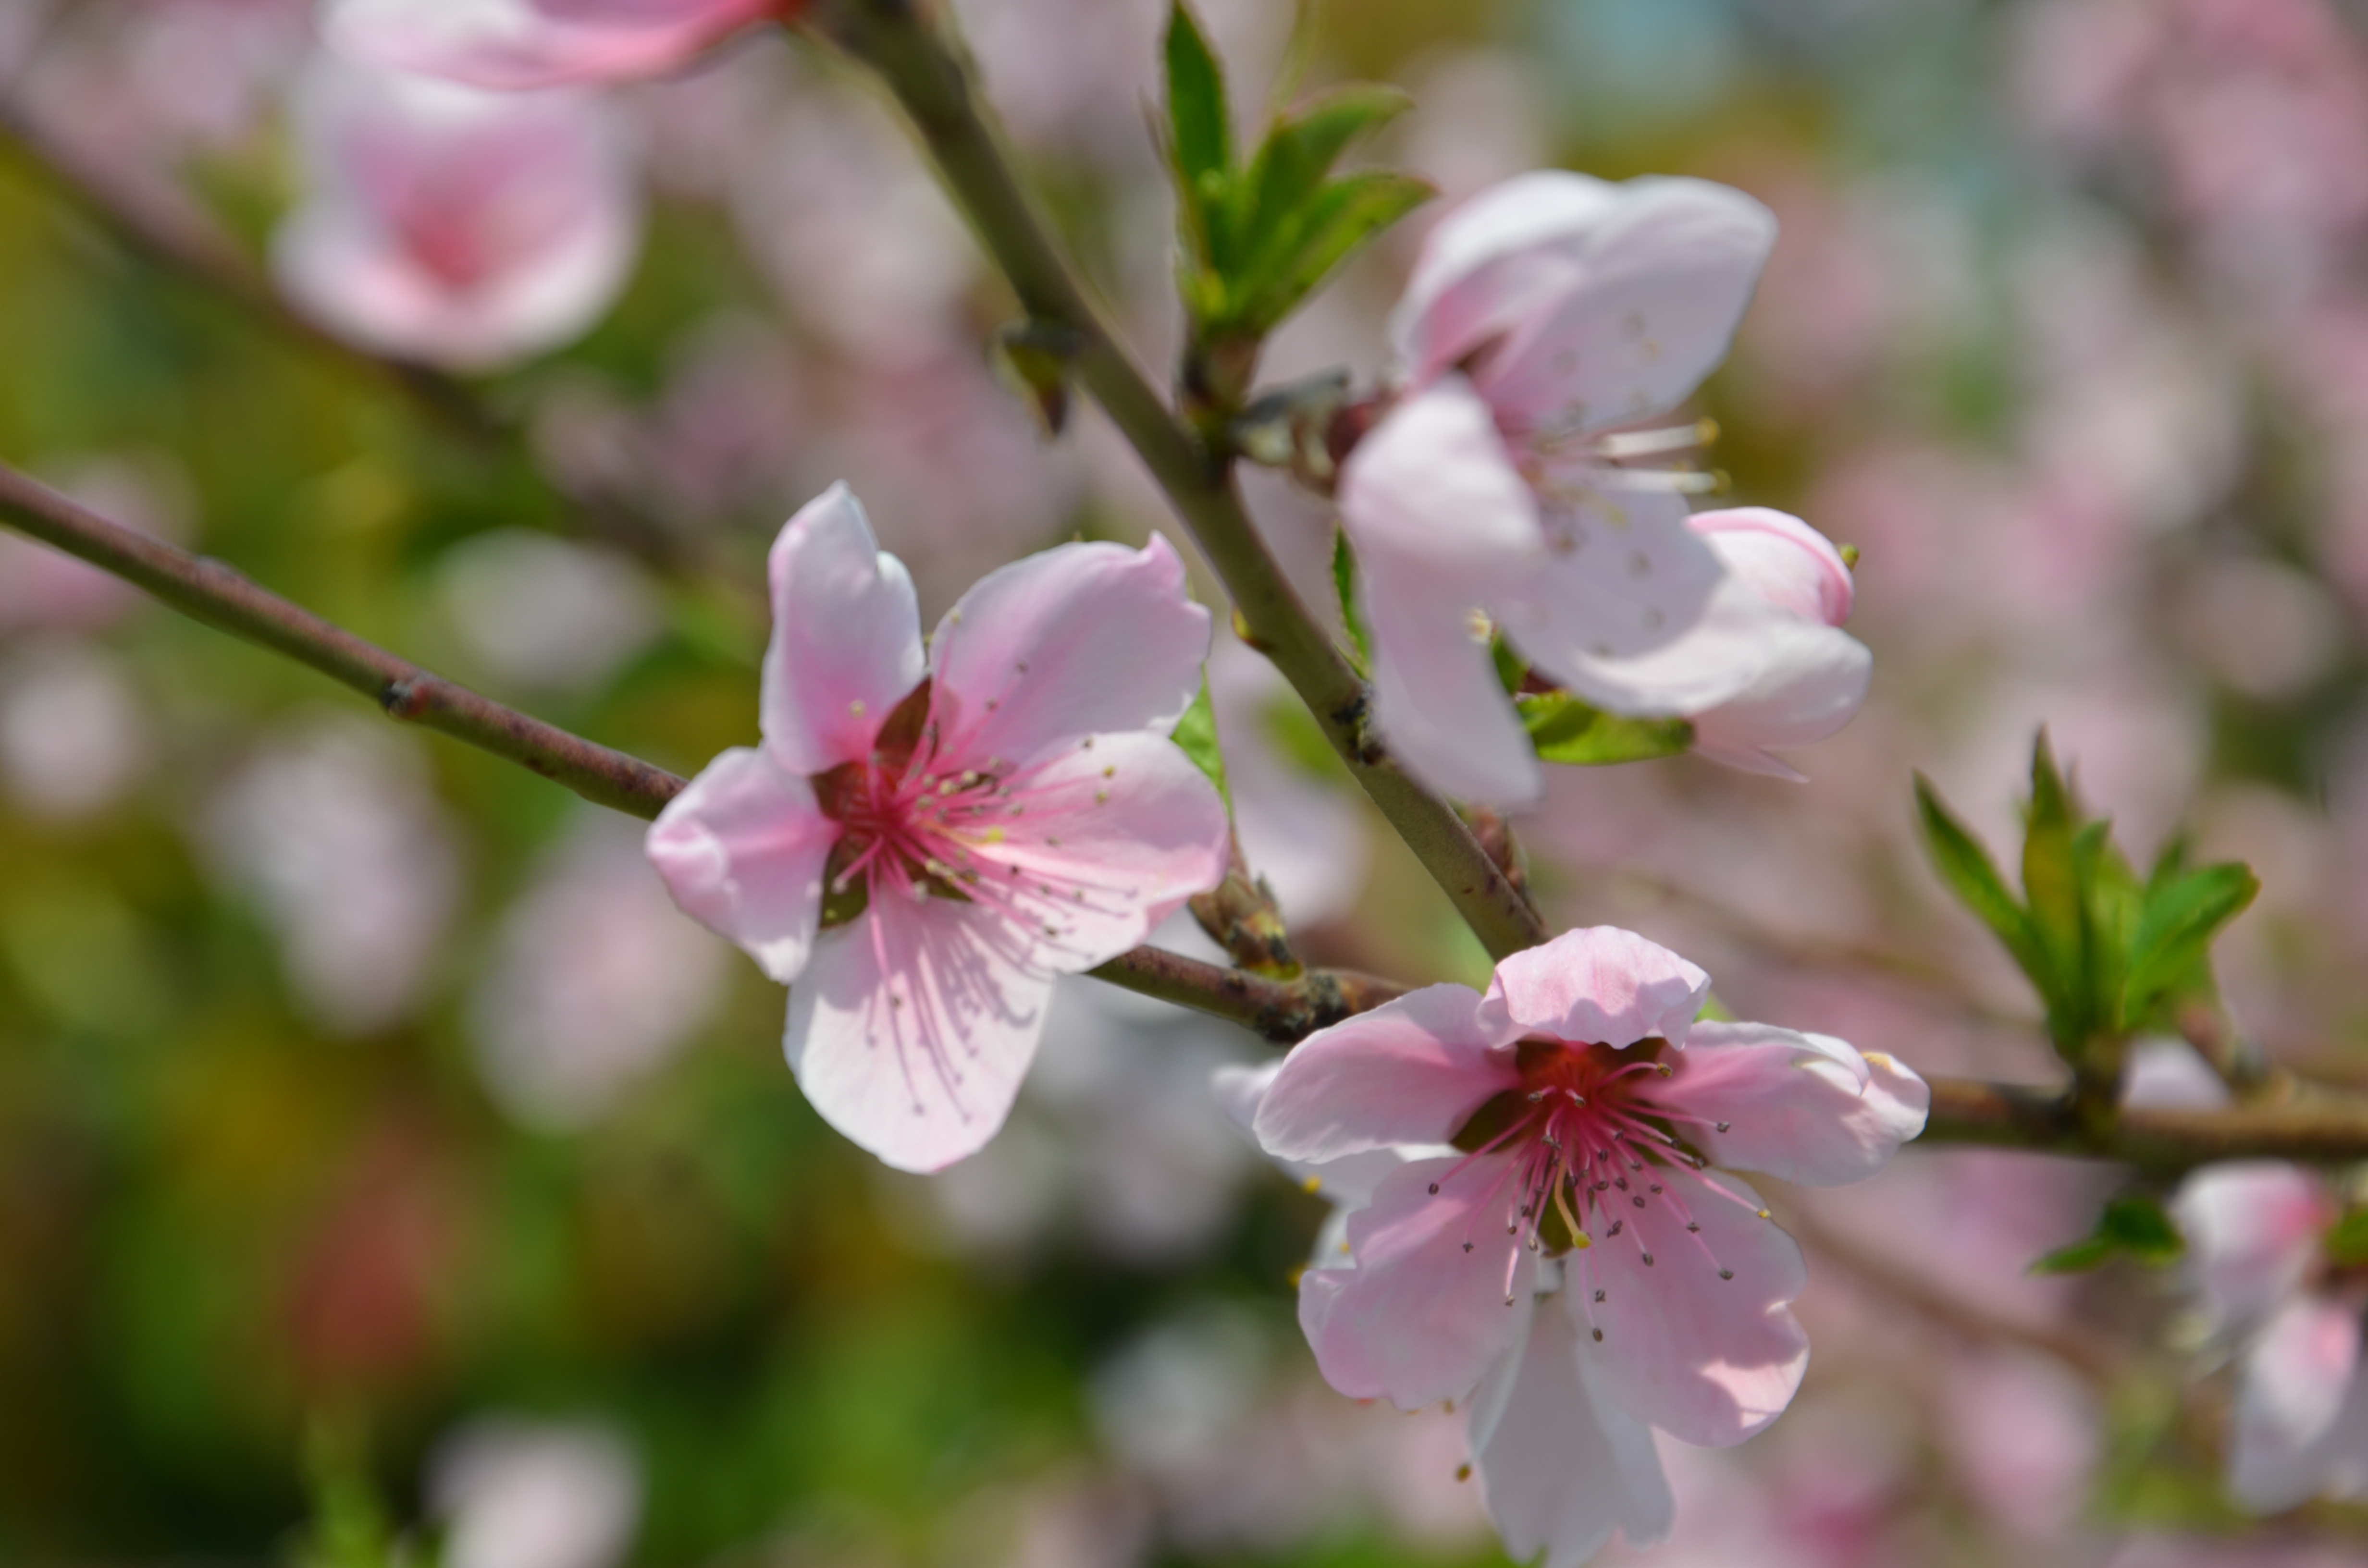
[[[942,1170],[1004,1125],[1049,1000],[995,912],[879,895],[815,940],[784,1047],[822,1120],[897,1170]]]

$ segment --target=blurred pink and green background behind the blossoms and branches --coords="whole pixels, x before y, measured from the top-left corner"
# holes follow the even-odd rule
[[[954,9],[1160,362],[1160,7]],[[1288,7],[1203,9],[1255,116]],[[452,398],[298,329],[256,279],[320,178],[315,50],[301,0],[0,0],[0,455],[680,772],[753,737],[762,547],[834,478],[931,616],[1172,528],[1092,412],[1040,441],[980,348],[1009,298],[897,121],[777,36],[609,97],[644,227],[580,341]],[[1686,950],[1740,1016],[2044,1075],[1909,770],[2006,838],[2046,722],[2136,855],[2257,865],[2233,1016],[2368,1078],[2359,7],[1354,0],[1307,81],[1340,76],[1414,90],[1371,156],[1447,199],[1563,163],[1783,220],[1700,405],[1736,500],[1864,550],[1873,699],[1804,786],[1558,770],[1520,831],[1561,921]],[[1423,223],[1274,377],[1383,367]],[[1317,578],[1321,505],[1255,502]],[[1305,950],[1471,978],[1260,661],[1215,677]],[[1454,1419],[1314,1376],[1321,1203],[1205,1087],[1255,1040],[1075,983],[1011,1127],[914,1180],[822,1127],[779,1026],[637,824],[0,535],[0,1561],[1501,1561]],[[1672,1450],[1653,1561],[2359,1561],[2359,1509],[2224,1502],[2226,1371],[2174,1274],[2022,1274],[2115,1180],[1911,1149],[1778,1194],[1809,1381],[1743,1450]]]

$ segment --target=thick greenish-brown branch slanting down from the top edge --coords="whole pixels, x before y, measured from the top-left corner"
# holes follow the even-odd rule
[[[1454,808],[1371,739],[1366,689],[1307,613],[1243,509],[1227,455],[1205,450],[1127,358],[1061,258],[990,130],[961,62],[912,0],[838,0],[815,24],[871,66],[905,107],[978,242],[1030,320],[1075,334],[1077,379],[1108,410],[1224,580],[1248,640],[1274,661],[1333,751],[1494,957],[1546,940],[1537,907],[1487,857]]]

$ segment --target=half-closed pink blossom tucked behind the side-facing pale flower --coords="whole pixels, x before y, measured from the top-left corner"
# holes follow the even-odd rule
[[[1847,725],[1873,675],[1873,654],[1842,630],[1849,566],[1823,533],[1785,512],[1703,512],[1691,526],[1736,580],[1778,611],[1759,675],[1693,715],[1693,748],[1729,767],[1797,779],[1800,772],[1767,748],[1807,746]]]

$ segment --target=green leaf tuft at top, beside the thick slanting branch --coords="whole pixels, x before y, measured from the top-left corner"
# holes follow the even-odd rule
[[[1243,161],[1224,66],[1191,7],[1175,0],[1165,152],[1177,185],[1184,306],[1198,343],[1255,343],[1333,268],[1435,194],[1404,173],[1333,173],[1350,144],[1409,102],[1376,83],[1333,88],[1279,111]]]

